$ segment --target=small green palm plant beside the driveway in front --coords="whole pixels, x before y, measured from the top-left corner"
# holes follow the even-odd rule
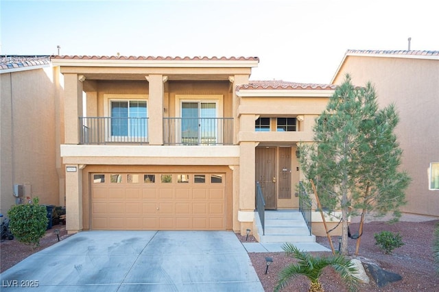
[[[309,292],[322,292],[324,290],[320,282],[320,276],[324,267],[328,266],[333,267],[340,274],[350,291],[357,291],[358,278],[355,277],[357,268],[351,260],[342,254],[315,257],[309,253],[301,252],[291,243],[285,243],[282,248],[287,256],[293,256],[298,260],[298,263],[288,265],[279,273],[278,284],[274,291],[281,291],[287,286],[289,280],[302,275],[311,281]]]

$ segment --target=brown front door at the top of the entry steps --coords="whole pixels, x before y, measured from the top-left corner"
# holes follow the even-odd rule
[[[261,186],[265,209],[276,209],[276,148],[256,148],[256,181]]]

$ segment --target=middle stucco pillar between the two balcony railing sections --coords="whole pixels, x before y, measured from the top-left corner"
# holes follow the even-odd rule
[[[148,141],[150,145],[163,145],[164,82],[167,77],[157,74],[145,76],[150,83],[148,97]]]

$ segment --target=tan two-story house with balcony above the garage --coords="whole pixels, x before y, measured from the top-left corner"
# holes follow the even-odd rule
[[[297,210],[296,143],[335,86],[250,82],[258,58],[54,56],[64,77],[67,230],[255,228]],[[316,219],[318,221],[318,219]]]

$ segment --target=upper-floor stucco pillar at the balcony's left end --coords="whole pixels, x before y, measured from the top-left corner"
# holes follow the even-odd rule
[[[64,133],[65,144],[80,141],[79,117],[82,117],[82,81],[84,76],[64,74]]]

